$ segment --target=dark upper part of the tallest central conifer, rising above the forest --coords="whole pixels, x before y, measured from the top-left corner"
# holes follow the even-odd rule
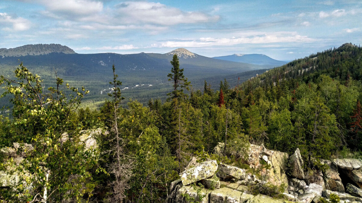
[[[180,69],[180,63],[178,61],[177,55],[173,55],[171,73],[167,75],[169,81],[173,82],[173,91],[167,95],[171,96],[171,99],[180,99],[186,98],[187,94],[184,93],[184,89],[190,90],[190,82],[187,81],[184,75],[184,69]]]

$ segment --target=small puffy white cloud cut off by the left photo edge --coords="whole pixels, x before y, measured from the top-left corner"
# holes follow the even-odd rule
[[[7,13],[0,13],[0,25],[5,31],[24,31],[30,29],[31,22],[25,18],[14,18]],[[7,25],[12,25],[12,28]]]

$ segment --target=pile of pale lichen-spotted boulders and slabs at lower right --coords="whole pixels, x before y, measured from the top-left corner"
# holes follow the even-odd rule
[[[214,154],[223,156],[223,144],[219,143],[214,148]],[[268,150],[263,145],[250,144],[245,151],[248,167],[244,168],[217,163],[216,160],[201,162],[192,157],[186,170],[180,173],[180,179],[171,183],[167,202],[318,203],[321,198],[328,200],[331,194],[338,195],[341,202],[362,202],[359,159],[313,159],[325,169],[306,171],[298,148],[290,157],[283,152]],[[237,153],[227,151],[228,154]],[[271,191],[273,188],[278,188],[278,195],[256,193],[256,189]]]

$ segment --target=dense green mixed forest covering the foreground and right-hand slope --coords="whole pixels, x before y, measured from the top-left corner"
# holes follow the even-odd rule
[[[306,169],[311,157],[362,157],[359,46],[318,52],[235,86],[224,79],[216,90],[207,81],[202,90],[191,88],[176,55],[170,69],[167,101],[150,99],[146,107],[123,99],[115,64],[113,91],[96,110],[79,107],[86,88],[56,77],[44,90],[23,64],[14,71],[17,80],[1,77],[13,108],[0,117],[0,147],[32,148],[20,163],[0,165],[24,180],[14,189],[0,187],[0,200],[163,202],[191,156],[242,166],[242,159],[212,154],[218,142],[264,144],[288,154],[298,147]],[[97,147],[87,149],[80,132],[89,129],[102,133],[94,135]]]

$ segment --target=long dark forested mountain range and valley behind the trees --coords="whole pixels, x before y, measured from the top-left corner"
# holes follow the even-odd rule
[[[24,47],[32,50],[31,53],[43,54],[25,55],[25,51],[13,51],[14,49],[24,50]],[[54,49],[48,48],[45,52],[44,47]],[[59,49],[55,49],[55,47]],[[70,53],[67,48],[49,44],[11,49],[14,56],[0,57],[1,75],[12,77],[20,60],[31,72],[44,79],[45,86],[54,84],[54,70],[56,70],[57,75],[64,81],[74,86],[84,85],[90,90],[90,94],[85,100],[104,101],[107,98],[105,92],[110,91],[109,81],[112,79],[112,64],[114,64],[119,80],[122,81],[122,88],[125,88],[122,90],[122,95],[128,99],[133,98],[147,103],[150,97],[164,100],[166,93],[170,92],[172,87],[167,74],[171,71],[170,61],[174,54],[180,58],[180,68],[184,68],[184,75],[191,81],[194,89],[201,89],[204,80],[216,88],[220,80],[224,80],[224,78],[233,78],[230,85],[235,85],[238,77],[248,79],[265,71],[261,70],[265,69],[265,66],[212,59],[184,48],[164,54],[143,52],[137,54],[79,54]],[[244,72],[247,73],[241,74]]]

